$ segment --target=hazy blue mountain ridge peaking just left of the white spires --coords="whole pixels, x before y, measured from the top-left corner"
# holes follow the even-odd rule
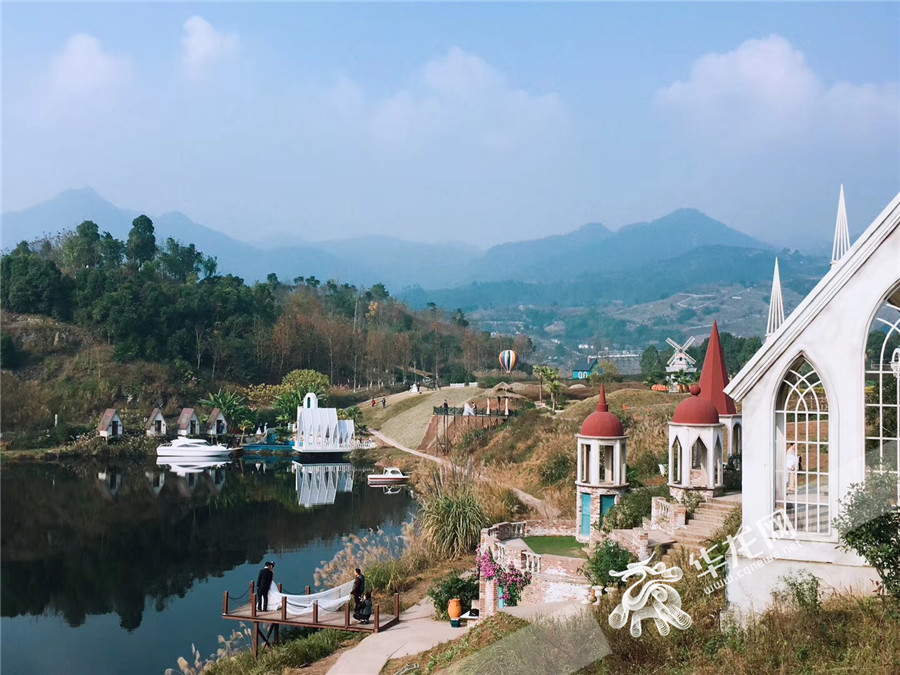
[[[615,232],[594,223],[570,234],[495,246],[470,266],[467,277],[470,281],[571,279],[598,270],[639,268],[699,246],[771,248],[696,209],[679,209]]]

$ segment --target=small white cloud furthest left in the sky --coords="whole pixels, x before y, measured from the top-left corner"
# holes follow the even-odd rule
[[[92,35],[79,33],[53,59],[45,88],[45,103],[105,103],[132,77],[128,58],[103,51]]]

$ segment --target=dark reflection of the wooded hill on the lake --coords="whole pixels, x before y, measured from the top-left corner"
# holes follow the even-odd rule
[[[2,616],[114,612],[127,631],[198,581],[399,523],[411,503],[367,494],[350,464],[257,459],[7,465],[0,495]]]

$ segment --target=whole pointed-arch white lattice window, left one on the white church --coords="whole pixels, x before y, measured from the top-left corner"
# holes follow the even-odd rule
[[[828,398],[815,368],[798,358],[775,403],[775,510],[797,530],[831,532]]]

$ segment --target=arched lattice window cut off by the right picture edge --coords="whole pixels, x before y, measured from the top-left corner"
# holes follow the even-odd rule
[[[900,498],[900,285],[881,305],[866,341],[866,473],[897,476]]]

